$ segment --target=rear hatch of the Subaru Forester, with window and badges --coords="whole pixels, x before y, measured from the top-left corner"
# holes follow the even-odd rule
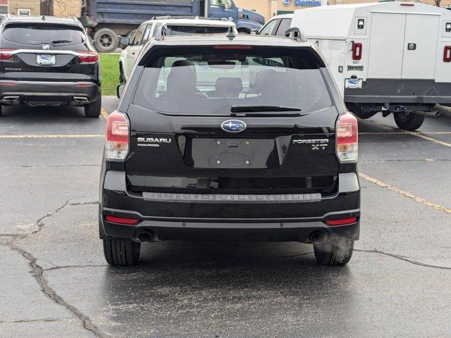
[[[311,48],[157,49],[128,108],[129,189],[157,201],[186,198],[192,210],[223,200],[249,218],[265,211],[240,211],[243,201],[335,194],[338,111],[324,71]]]

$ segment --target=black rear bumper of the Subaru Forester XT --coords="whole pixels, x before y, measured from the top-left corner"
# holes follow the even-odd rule
[[[360,216],[360,187],[356,173],[340,174],[333,196],[305,201],[149,200],[129,192],[125,173],[108,171],[101,189],[100,236],[138,239],[150,232],[158,239],[208,239],[309,242],[312,232],[359,238],[359,220],[352,225],[329,226],[326,220]],[[249,195],[256,196],[256,195]],[[258,196],[258,195],[257,195]],[[276,195],[274,195],[276,196]],[[137,225],[120,225],[106,215],[137,218]]]

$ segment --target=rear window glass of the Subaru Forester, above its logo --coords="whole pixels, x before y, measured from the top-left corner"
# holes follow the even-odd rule
[[[259,106],[261,111],[271,111],[268,106],[316,111],[332,105],[320,63],[311,49],[209,49],[154,56],[134,103],[173,114],[224,114],[237,111],[236,106],[252,106],[244,110],[253,112]]]

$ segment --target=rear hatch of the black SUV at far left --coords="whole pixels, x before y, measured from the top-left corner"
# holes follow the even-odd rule
[[[97,75],[99,56],[78,25],[11,21],[1,34],[1,66],[8,80],[86,81]]]

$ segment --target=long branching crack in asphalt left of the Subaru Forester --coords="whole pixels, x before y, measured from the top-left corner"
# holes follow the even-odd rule
[[[51,301],[54,301],[55,303],[63,306],[64,308],[66,308],[68,311],[70,311],[70,313],[73,313],[73,315],[75,315],[76,318],[78,318],[79,320],[81,320],[82,322],[82,326],[85,328],[85,330],[88,330],[90,332],[92,332],[92,334],[94,334],[95,337],[99,337],[99,338],[108,338],[110,337],[108,334],[105,334],[104,332],[101,332],[101,330],[99,329],[99,327],[97,327],[96,325],[94,325],[94,323],[92,322],[91,318],[89,318],[89,316],[85,315],[84,313],[82,313],[80,310],[78,310],[78,308],[75,308],[75,306],[70,305],[70,303],[66,302],[63,297],[61,297],[60,295],[58,295],[55,290],[49,285],[49,282],[45,279],[44,277],[44,272],[46,270],[44,270],[42,268],[42,266],[40,266],[37,263],[37,258],[35,258],[35,256],[33,256],[31,253],[25,251],[24,249],[20,248],[20,246],[18,246],[15,241],[18,239],[24,239],[27,236],[30,236],[32,234],[37,234],[38,232],[41,232],[44,229],[44,223],[42,222],[42,220],[44,220],[45,218],[49,218],[53,215],[55,215],[56,213],[58,213],[59,211],[61,211],[63,208],[65,208],[66,206],[70,205],[69,202],[72,200],[73,198],[70,198],[66,201],[66,203],[64,203],[62,206],[56,208],[55,211],[51,212],[51,213],[47,213],[47,215],[44,215],[42,218],[39,218],[35,225],[37,225],[37,230],[32,231],[29,234],[20,234],[18,236],[13,236],[13,240],[11,242],[8,243],[0,243],[0,245],[4,245],[4,246],[8,246],[11,250],[16,251],[18,253],[20,253],[20,255],[23,256],[23,258],[25,258],[28,261],[28,264],[30,265],[30,268],[32,270],[32,275],[33,277],[35,277],[35,280],[37,281],[37,283],[39,284],[39,287],[41,288],[41,291],[44,292],[44,294],[51,299]],[[98,202],[96,202],[98,203]],[[88,204],[93,204],[93,202],[88,202]],[[73,204],[73,205],[82,205],[81,204]],[[81,267],[81,265],[80,265]],[[55,270],[58,267],[54,267],[54,268],[49,268],[47,270]]]

